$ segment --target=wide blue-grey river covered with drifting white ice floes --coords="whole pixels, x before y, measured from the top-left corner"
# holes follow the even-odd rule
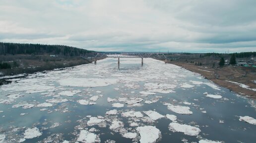
[[[0,87],[0,143],[255,143],[254,100],[143,60],[11,79]]]

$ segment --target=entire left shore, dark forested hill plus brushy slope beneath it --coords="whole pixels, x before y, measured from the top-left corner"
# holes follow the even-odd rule
[[[88,64],[97,52],[63,45],[0,42],[0,77]]]

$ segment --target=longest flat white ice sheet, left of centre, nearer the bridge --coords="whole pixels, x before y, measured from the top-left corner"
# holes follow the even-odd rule
[[[58,81],[62,86],[104,87],[117,83],[117,79],[107,78],[65,78]]]

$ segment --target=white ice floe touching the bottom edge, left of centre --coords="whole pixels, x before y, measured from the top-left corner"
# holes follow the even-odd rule
[[[100,138],[96,134],[81,130],[77,141],[82,143],[100,143]]]

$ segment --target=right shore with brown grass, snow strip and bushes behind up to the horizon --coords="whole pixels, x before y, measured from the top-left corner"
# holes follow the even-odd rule
[[[196,58],[196,56],[186,56],[183,58],[170,58],[170,56],[167,56],[167,63],[178,65],[187,70],[198,73],[204,76],[205,79],[211,80],[215,84],[227,88],[239,95],[256,99],[256,67],[232,66],[227,63],[224,66],[216,66],[222,56],[200,56],[199,58]],[[226,57],[226,59],[228,58],[229,56]],[[159,60],[164,61],[163,59]]]

